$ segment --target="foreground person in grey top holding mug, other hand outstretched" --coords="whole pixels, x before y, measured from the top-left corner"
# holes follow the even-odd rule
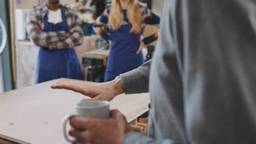
[[[253,0],[166,0],[152,62],[108,83],[52,86],[96,100],[149,91],[148,136],[116,110],[109,120],[72,118],[69,134],[82,143],[256,143],[255,11]]]

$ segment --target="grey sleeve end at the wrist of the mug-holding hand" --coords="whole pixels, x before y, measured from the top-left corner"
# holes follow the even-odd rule
[[[170,139],[154,140],[139,133],[132,132],[127,134],[121,144],[178,144]]]

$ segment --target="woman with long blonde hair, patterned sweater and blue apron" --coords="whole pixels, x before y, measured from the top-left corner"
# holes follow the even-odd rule
[[[141,40],[143,27],[159,26],[160,17],[137,0],[113,0],[112,7],[97,18],[94,31],[111,41],[104,81],[112,81],[120,74],[138,68],[144,61],[141,49],[158,39],[155,33]],[[102,26],[108,25],[110,32]]]

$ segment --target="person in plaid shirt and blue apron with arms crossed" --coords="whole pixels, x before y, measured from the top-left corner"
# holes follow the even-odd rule
[[[83,29],[74,10],[59,0],[48,0],[30,12],[27,31],[33,43],[40,46],[36,83],[60,77],[84,79],[73,49],[83,43]]]

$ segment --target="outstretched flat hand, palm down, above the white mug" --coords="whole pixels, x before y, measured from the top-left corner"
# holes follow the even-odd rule
[[[115,80],[103,83],[84,83],[84,82],[56,82],[51,85],[53,89],[68,89],[74,92],[81,93],[92,99],[85,100],[107,100],[114,99],[115,96],[124,93],[123,83],[120,77],[116,77]]]

